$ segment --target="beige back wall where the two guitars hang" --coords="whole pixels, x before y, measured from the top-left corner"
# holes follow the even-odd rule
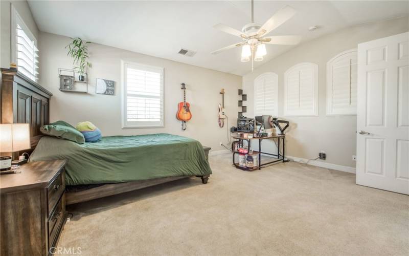
[[[58,68],[72,68],[72,59],[66,56],[64,49],[69,43],[68,37],[40,32],[42,74],[39,83],[54,94],[51,121],[65,120],[71,124],[91,121],[101,129],[103,136],[171,133],[197,139],[215,151],[223,149],[219,143],[226,143],[230,125],[218,126],[219,92],[225,88],[224,103],[230,124],[237,123],[237,91],[242,86],[241,76],[92,44],[89,61],[93,68],[89,70],[88,94],[61,92],[58,90]],[[121,129],[121,59],[165,68],[165,128]],[[115,96],[95,94],[96,78],[115,80]],[[186,83],[186,97],[193,115],[186,131],[181,131],[175,117],[177,103],[183,101],[181,82]]]

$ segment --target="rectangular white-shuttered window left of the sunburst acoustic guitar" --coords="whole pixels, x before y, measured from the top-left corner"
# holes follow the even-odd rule
[[[123,127],[164,127],[164,69],[123,62]]]

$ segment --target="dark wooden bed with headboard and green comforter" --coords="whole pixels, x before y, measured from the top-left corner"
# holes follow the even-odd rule
[[[82,145],[42,136],[39,129],[49,123],[52,94],[13,69],[1,72],[2,123],[31,123],[30,161],[68,160],[66,204],[192,176],[208,182],[210,148],[183,136],[112,136]]]

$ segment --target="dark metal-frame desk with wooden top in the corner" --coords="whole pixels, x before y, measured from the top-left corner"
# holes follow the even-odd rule
[[[261,150],[261,142],[262,140],[265,139],[272,139],[274,140],[275,138],[278,138],[278,145],[277,145],[277,154],[271,154],[271,153],[266,153],[266,152],[262,152]],[[254,166],[253,168],[248,168],[248,167],[244,167],[244,166],[240,166],[238,165],[235,161],[234,161],[234,157],[236,154],[240,154],[238,151],[234,151],[234,148],[232,148],[233,151],[233,164],[234,166],[236,166],[236,168],[238,169],[242,169],[242,170],[256,170],[256,169],[261,169],[262,166],[267,165],[267,164],[272,164],[272,163],[276,163],[279,161],[284,162],[288,162],[288,160],[285,159],[285,135],[280,135],[280,134],[273,134],[271,136],[266,136],[266,137],[258,137],[258,138],[243,138],[243,137],[237,137],[237,136],[233,136],[233,139],[236,139],[236,141],[234,142],[238,142],[239,145],[243,145],[243,140],[247,141],[248,144],[248,149],[250,149],[252,147],[252,140],[258,140],[259,141],[259,151],[253,151],[255,153],[258,154],[258,164],[257,166]],[[283,154],[280,154],[280,140],[282,140],[282,144],[283,144]],[[269,156],[274,156],[277,158],[277,160],[274,161],[270,161],[267,163],[261,163],[261,154],[265,154],[265,155],[269,155]]]

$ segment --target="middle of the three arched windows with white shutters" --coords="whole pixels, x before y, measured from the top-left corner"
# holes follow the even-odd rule
[[[318,65],[303,62],[284,73],[284,115],[318,115]]]

